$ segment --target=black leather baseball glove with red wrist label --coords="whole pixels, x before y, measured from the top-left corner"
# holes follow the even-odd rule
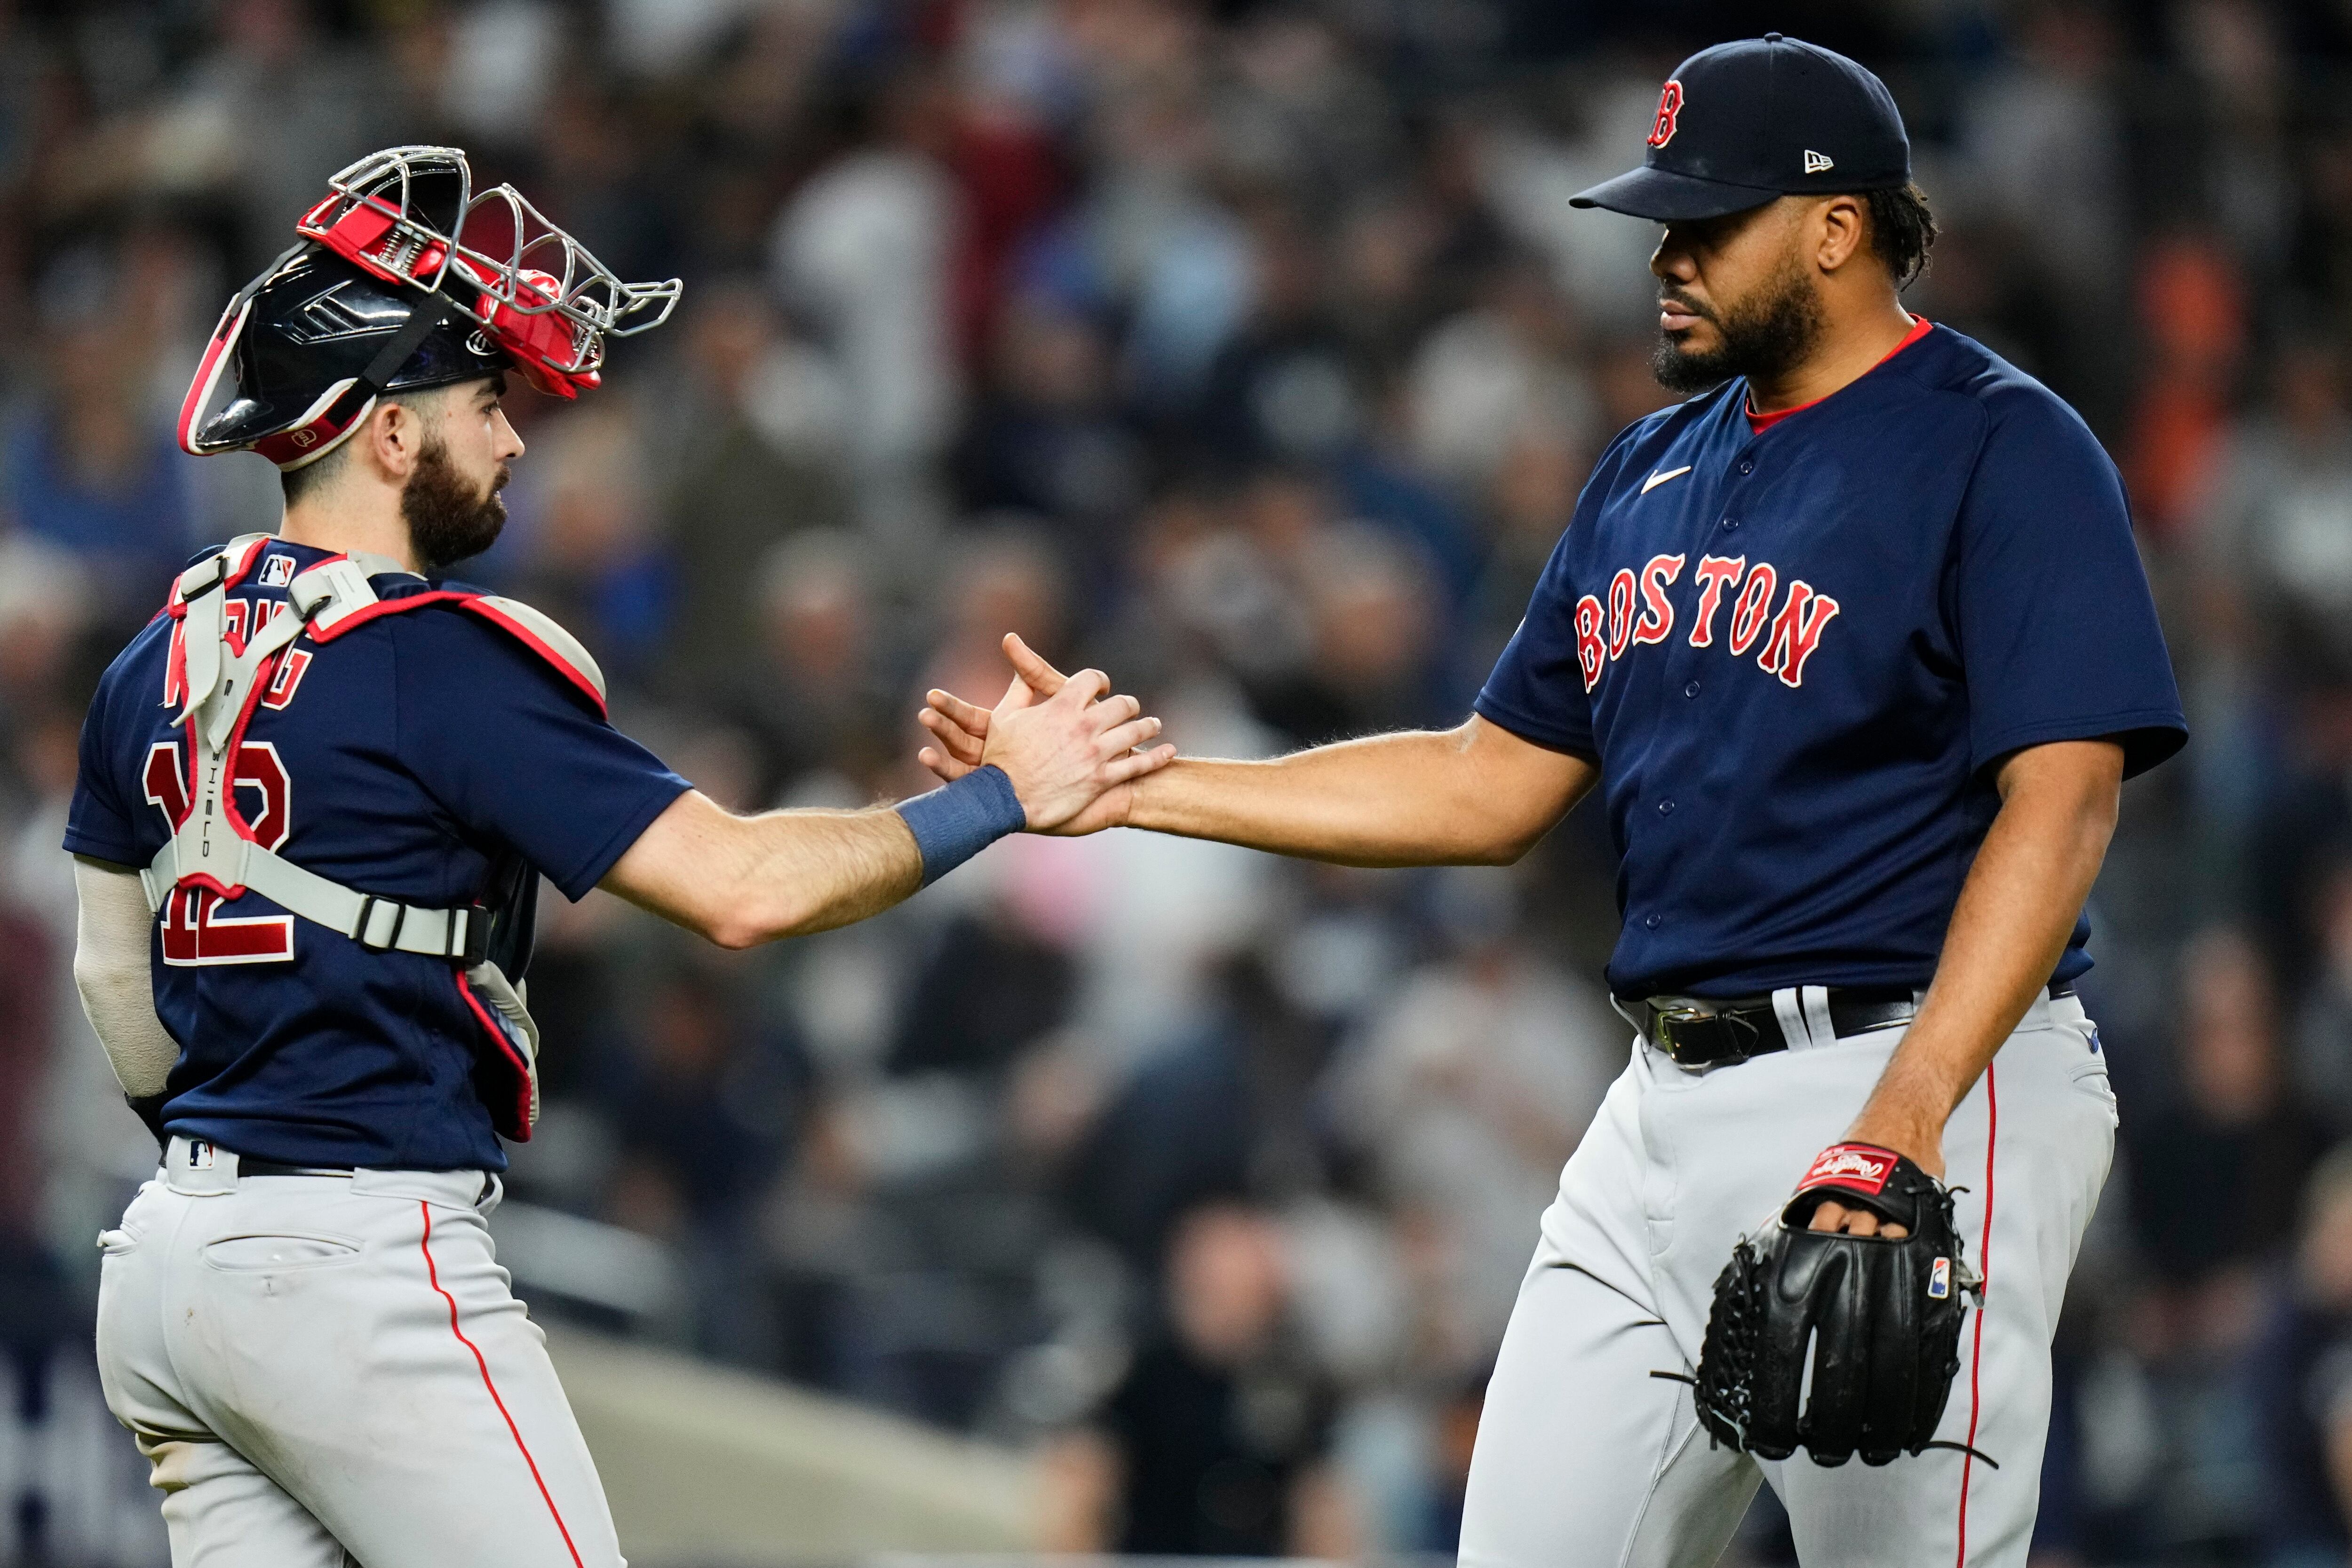
[[[1907,1234],[1806,1229],[1832,1199]],[[1898,1453],[1959,1448],[1933,1439],[1973,1293],[1945,1185],[1893,1150],[1832,1145],[1778,1225],[1740,1239],[1715,1281],[1698,1418],[1715,1441],[1764,1460],[1804,1446],[1816,1465],[1856,1453],[1863,1465],[1886,1465]],[[1813,1387],[1799,1410],[1809,1352]]]

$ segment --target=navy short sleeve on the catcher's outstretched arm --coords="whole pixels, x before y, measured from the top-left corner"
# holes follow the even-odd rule
[[[400,616],[395,750],[468,832],[583,898],[691,785],[494,625]]]

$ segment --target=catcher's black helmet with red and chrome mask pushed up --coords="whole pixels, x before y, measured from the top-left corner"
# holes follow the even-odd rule
[[[473,190],[459,148],[350,165],[294,223],[292,249],[238,289],[179,409],[195,456],[301,468],[383,393],[517,369],[541,393],[597,386],[604,339],[659,327],[680,282],[621,282],[513,186]],[[230,395],[212,409],[223,374]]]

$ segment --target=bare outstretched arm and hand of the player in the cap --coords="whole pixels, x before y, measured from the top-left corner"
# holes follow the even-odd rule
[[[1065,691],[1063,675],[1004,639],[1016,686]],[[922,764],[962,778],[981,762],[995,715],[948,691],[922,712],[936,745]],[[1585,797],[1599,766],[1472,717],[1449,731],[1402,731],[1317,745],[1272,762],[1183,759],[1105,790],[1061,832],[1148,827],[1338,865],[1508,865]]]

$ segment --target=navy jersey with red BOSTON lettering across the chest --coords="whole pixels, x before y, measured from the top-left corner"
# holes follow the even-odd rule
[[[1609,444],[1477,712],[1599,762],[1618,994],[1924,987],[1992,764],[2110,736],[2138,773],[2187,738],[2124,487],[1945,327],[1764,430],[1745,404]]]

